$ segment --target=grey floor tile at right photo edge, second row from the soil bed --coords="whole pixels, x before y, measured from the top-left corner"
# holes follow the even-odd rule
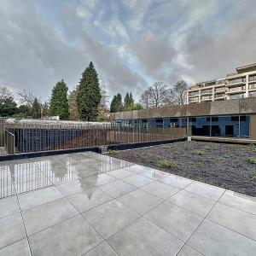
[[[251,213],[218,203],[212,208],[207,218],[256,240],[256,216]]]

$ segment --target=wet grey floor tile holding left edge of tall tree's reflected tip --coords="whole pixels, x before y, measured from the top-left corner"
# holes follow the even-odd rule
[[[91,188],[96,188],[92,183],[86,181],[86,179],[82,178],[70,183],[64,183],[56,186],[57,189],[61,191],[63,195],[73,195],[79,192],[87,191]]]

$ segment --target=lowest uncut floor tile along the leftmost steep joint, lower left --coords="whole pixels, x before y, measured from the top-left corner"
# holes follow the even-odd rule
[[[38,231],[61,223],[67,218],[72,218],[78,214],[79,212],[66,198],[51,201],[42,206],[33,207],[22,212],[27,236],[31,236]]]

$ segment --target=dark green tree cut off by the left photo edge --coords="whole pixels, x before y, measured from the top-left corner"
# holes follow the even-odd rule
[[[17,112],[17,104],[6,87],[0,87],[0,116],[11,116]]]

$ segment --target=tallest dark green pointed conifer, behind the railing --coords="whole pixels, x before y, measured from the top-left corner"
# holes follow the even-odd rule
[[[93,63],[90,61],[82,73],[82,79],[78,86],[77,103],[80,119],[94,121],[98,114],[101,102],[101,89],[98,74]]]

